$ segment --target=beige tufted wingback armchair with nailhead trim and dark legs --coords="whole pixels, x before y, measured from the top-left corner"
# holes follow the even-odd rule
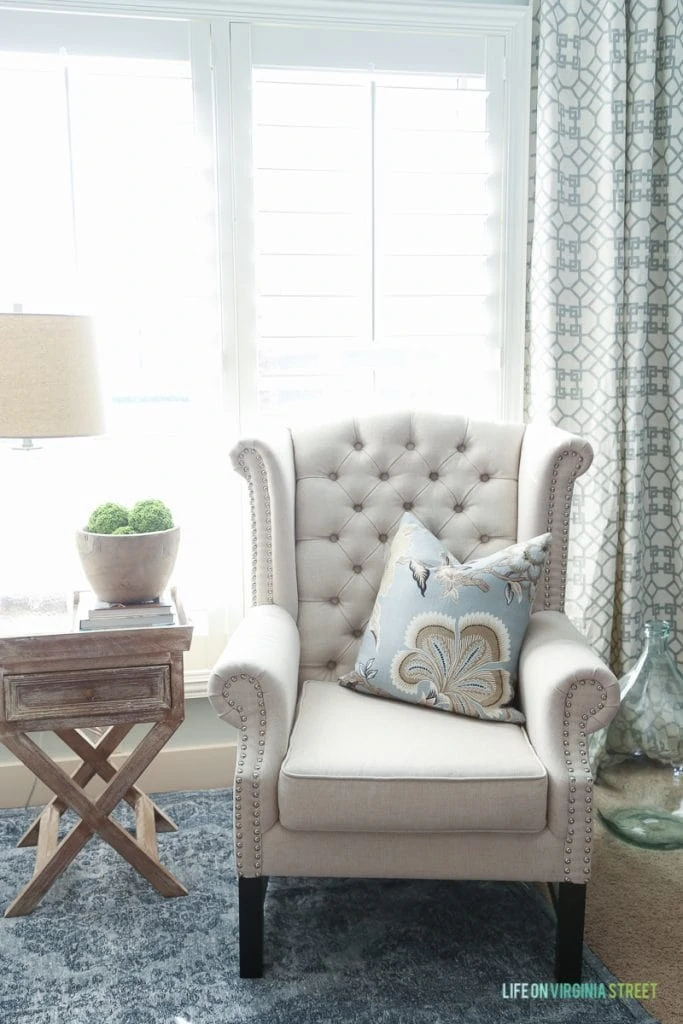
[[[548,424],[395,414],[241,441],[253,607],[209,695],[239,729],[234,850],[244,977],[262,974],[267,877],[547,882],[556,974],[581,977],[591,871],[587,734],[612,674],[563,613],[581,438]],[[522,646],[526,721],[485,722],[337,685],[410,509],[462,561],[550,531]]]

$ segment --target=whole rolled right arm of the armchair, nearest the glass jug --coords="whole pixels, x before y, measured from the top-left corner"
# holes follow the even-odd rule
[[[548,827],[565,840],[564,879],[587,882],[593,777],[587,735],[616,714],[614,675],[559,611],[531,615],[519,658],[526,732],[548,771]]]

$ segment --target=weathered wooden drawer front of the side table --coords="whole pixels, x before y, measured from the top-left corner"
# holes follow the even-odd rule
[[[6,675],[3,690],[7,722],[40,719],[47,724],[67,716],[92,718],[93,723],[102,718],[126,721],[131,714],[171,706],[168,665]]]

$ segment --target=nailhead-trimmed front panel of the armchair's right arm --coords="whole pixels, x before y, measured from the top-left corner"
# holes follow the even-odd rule
[[[597,711],[590,714],[579,713],[574,708],[577,691],[581,686],[598,688],[597,695],[602,707],[607,694],[602,683],[595,679],[582,679],[571,683],[564,697],[562,746],[564,764],[569,781],[567,806],[567,834],[564,840],[564,876],[567,882],[588,882],[591,873],[591,849],[593,843],[593,776],[588,758],[586,724]],[[579,829],[579,836],[577,835]],[[583,844],[583,845],[582,845]]]

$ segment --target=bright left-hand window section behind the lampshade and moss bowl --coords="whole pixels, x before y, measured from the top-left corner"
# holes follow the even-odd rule
[[[92,19],[53,18],[49,43],[36,31],[44,49],[0,52],[0,309],[91,313],[108,398],[104,437],[3,451],[15,500],[2,536],[23,538],[3,545],[5,602],[85,585],[74,531],[101,501],[159,497],[183,524],[204,513],[183,467],[201,477],[213,462],[216,260],[187,32],[170,35],[171,56],[115,34],[110,55],[111,24],[98,38]],[[178,571],[201,636],[203,535],[183,534]]]

